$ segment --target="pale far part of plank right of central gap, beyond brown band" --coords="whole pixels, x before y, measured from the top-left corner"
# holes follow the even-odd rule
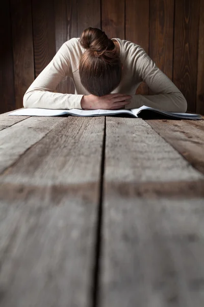
[[[108,181],[169,182],[201,176],[142,119],[108,117],[106,140]]]

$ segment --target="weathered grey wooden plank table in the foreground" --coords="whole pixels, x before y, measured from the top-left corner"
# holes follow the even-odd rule
[[[0,130],[1,307],[203,307],[204,120]]]

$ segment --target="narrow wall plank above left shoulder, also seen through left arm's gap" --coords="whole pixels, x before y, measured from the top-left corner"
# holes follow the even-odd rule
[[[56,52],[63,43],[70,39],[70,19],[71,19],[71,2],[66,0],[55,0],[55,38]],[[75,88],[72,78],[66,77],[57,86],[57,92],[63,94],[74,94]]]

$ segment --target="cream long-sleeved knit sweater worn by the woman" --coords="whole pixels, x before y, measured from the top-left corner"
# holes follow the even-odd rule
[[[146,52],[135,43],[119,38],[120,58],[123,63],[122,79],[112,93],[130,94],[131,103],[125,108],[138,108],[142,105],[169,112],[186,112],[187,102],[171,80],[156,66]],[[86,50],[79,38],[71,38],[63,43],[53,60],[34,80],[23,97],[24,107],[51,109],[71,109],[81,107],[83,95],[90,93],[84,88],[79,75],[79,63]],[[53,93],[66,76],[73,79],[75,94]],[[139,84],[144,81],[155,95],[135,95]]]

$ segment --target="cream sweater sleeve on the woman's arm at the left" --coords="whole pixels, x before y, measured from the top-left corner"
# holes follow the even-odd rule
[[[53,60],[34,80],[24,94],[24,107],[82,109],[81,99],[83,95],[53,93],[62,79],[66,76],[72,77],[71,63],[69,60],[69,51],[71,48],[70,41],[64,43]]]

